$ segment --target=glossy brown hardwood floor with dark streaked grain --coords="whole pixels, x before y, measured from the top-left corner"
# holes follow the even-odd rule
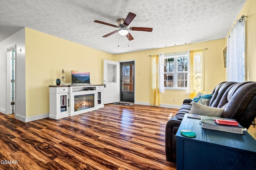
[[[108,104],[28,123],[0,113],[0,170],[176,170],[165,158],[165,125],[177,111]]]

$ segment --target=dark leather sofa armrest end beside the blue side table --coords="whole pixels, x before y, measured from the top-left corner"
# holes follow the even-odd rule
[[[165,155],[166,160],[176,163],[176,133],[180,127],[182,116],[172,117],[166,123],[165,129]]]

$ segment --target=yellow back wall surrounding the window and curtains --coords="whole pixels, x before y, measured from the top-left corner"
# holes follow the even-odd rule
[[[115,55],[115,60],[135,60],[135,101],[149,103],[151,71],[151,59],[148,57],[149,55],[208,48],[208,50],[204,51],[204,92],[211,93],[219,82],[225,81],[223,58],[223,50],[225,47],[225,39],[218,39],[214,41]],[[176,98],[176,102],[173,101],[173,98]],[[184,90],[165,90],[164,94],[161,94],[160,103],[181,105],[185,98],[188,98],[188,95]]]

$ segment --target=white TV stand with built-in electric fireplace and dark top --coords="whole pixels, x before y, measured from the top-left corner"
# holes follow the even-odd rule
[[[103,85],[49,86],[50,115],[61,119],[104,107]]]

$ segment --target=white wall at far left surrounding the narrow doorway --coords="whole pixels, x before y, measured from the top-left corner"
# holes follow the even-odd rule
[[[6,49],[16,45],[16,101],[15,117],[26,117],[25,28],[0,42],[0,112],[7,112],[7,61]],[[19,50],[21,49],[21,51]],[[19,119],[19,118],[17,118]]]

